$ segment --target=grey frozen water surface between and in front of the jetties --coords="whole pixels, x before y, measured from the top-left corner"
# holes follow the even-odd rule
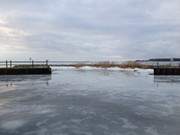
[[[0,77],[0,135],[179,135],[180,77],[56,69]]]

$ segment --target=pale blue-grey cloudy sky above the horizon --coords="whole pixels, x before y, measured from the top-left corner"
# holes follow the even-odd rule
[[[0,0],[0,59],[180,57],[180,0]]]

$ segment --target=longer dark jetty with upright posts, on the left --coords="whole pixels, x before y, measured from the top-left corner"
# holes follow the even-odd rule
[[[21,62],[6,60],[0,62],[0,65],[0,75],[41,75],[52,73],[47,60]]]

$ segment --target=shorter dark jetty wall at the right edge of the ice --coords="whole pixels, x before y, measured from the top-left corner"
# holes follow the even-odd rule
[[[154,75],[180,75],[180,67],[154,67]]]

